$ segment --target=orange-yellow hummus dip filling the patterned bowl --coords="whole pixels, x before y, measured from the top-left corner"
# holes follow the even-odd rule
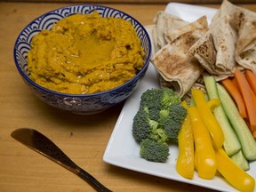
[[[103,92],[135,76],[144,55],[129,21],[102,18],[98,12],[75,14],[34,36],[28,72],[52,91]]]

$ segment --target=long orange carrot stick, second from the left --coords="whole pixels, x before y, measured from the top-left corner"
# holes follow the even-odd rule
[[[252,132],[254,132],[256,131],[256,108],[254,108],[254,105],[253,105],[253,98],[252,98],[252,92],[250,91],[251,90],[250,84],[248,83],[246,77],[241,71],[236,70],[234,75],[236,78],[236,82],[239,86],[239,90],[244,99],[244,104],[247,110],[247,116],[249,118],[251,130]]]

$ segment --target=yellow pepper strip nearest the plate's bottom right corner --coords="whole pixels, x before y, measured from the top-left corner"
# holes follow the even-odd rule
[[[239,191],[251,192],[255,188],[255,180],[247,172],[244,172],[226,154],[223,148],[216,149],[218,161],[217,170],[234,188]]]

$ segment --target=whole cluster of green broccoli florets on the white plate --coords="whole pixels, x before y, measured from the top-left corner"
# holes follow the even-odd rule
[[[143,158],[155,162],[166,161],[169,156],[168,142],[178,141],[181,124],[187,116],[187,109],[180,103],[180,96],[168,88],[143,92],[132,124],[132,134],[140,142],[140,155]]]

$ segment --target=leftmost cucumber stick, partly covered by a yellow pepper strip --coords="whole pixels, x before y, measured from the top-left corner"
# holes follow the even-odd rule
[[[214,77],[204,76],[204,84],[209,99],[220,100]],[[228,156],[233,156],[241,149],[241,144],[236,136],[236,132],[234,132],[232,125],[229,123],[228,117],[226,116],[222,104],[216,108],[213,108],[212,112],[219,122],[222,132],[224,133],[225,141],[223,143],[223,148],[225,149]]]

